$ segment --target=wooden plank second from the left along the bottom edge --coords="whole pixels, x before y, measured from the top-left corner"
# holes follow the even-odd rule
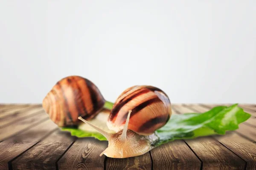
[[[58,158],[76,140],[68,132],[57,130],[12,162],[13,170],[52,170]]]

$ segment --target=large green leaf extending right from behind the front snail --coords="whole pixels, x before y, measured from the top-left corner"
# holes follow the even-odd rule
[[[228,130],[236,130],[240,123],[251,116],[237,105],[214,107],[201,114],[172,115],[167,124],[155,132],[158,139],[154,141],[153,145],[159,146],[175,139],[196,138],[214,134],[224,135]]]

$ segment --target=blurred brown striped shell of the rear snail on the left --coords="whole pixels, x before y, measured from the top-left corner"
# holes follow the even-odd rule
[[[86,78],[68,76],[58,81],[43,100],[43,108],[59,127],[76,125],[78,117],[93,118],[105,104],[98,87]]]

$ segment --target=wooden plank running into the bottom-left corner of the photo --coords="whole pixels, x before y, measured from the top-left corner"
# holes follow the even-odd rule
[[[8,169],[8,163],[13,161],[17,156],[24,153],[30,147],[37,144],[42,138],[56,130],[57,125],[51,120],[41,122],[23,131],[18,135],[9,138],[0,143],[0,170]]]

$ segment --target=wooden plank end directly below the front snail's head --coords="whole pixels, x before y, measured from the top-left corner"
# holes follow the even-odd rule
[[[107,170],[151,170],[149,152],[130,158],[107,158]]]

